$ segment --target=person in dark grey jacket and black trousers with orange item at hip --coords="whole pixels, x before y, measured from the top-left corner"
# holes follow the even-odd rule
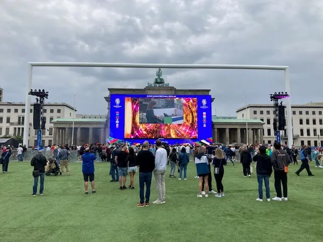
[[[287,201],[287,169],[289,165],[289,155],[285,150],[282,149],[280,143],[274,143],[274,152],[272,153],[272,165],[274,168],[274,176],[275,176],[275,189],[277,196],[273,198],[274,201]],[[283,195],[282,197],[282,187],[283,185]]]

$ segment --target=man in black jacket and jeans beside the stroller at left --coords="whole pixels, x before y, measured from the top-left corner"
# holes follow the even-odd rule
[[[43,156],[41,151],[38,151],[37,154],[31,159],[30,165],[34,167],[34,171],[33,171],[34,186],[32,187],[31,196],[36,196],[37,194],[38,177],[40,177],[39,195],[40,196],[43,195],[46,164],[47,164],[46,157]]]

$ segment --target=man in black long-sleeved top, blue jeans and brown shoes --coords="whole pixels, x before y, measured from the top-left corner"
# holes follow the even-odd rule
[[[149,207],[150,186],[152,171],[155,169],[155,157],[148,150],[148,141],[143,142],[142,150],[137,155],[137,165],[139,166],[139,196],[140,202],[138,207]],[[144,188],[146,184],[146,196],[144,196]],[[145,200],[146,199],[146,200]]]

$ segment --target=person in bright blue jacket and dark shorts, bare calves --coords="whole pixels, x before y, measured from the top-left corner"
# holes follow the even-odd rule
[[[94,190],[94,160],[95,155],[90,152],[90,148],[85,148],[85,153],[82,155],[82,173],[84,178],[85,194],[88,192],[88,180],[90,180],[92,193],[96,193]]]

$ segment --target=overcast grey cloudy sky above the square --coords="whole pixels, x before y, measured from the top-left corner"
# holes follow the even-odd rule
[[[0,86],[25,101],[28,62],[290,66],[292,103],[323,101],[321,0],[1,0]],[[34,68],[32,88],[105,114],[107,88],[143,88],[155,69]],[[270,103],[282,71],[165,69],[171,86],[211,89],[213,114]],[[246,98],[247,97],[247,98]]]

